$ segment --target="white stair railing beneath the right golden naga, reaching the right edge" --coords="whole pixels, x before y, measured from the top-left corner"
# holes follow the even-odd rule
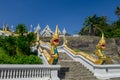
[[[73,60],[80,62],[83,64],[87,69],[89,69],[94,76],[98,79],[110,79],[110,78],[117,78],[120,77],[120,64],[106,64],[106,65],[95,65],[88,59],[84,58],[81,55],[75,55],[64,46],[58,47],[59,52],[65,52],[68,54]]]

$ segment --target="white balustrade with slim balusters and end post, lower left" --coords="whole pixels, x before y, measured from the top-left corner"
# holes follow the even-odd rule
[[[59,65],[1,64],[0,80],[59,80]]]

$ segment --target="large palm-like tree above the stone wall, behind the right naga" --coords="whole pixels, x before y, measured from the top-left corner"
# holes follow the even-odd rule
[[[103,29],[108,26],[106,16],[89,16],[85,19],[83,23],[83,28],[79,32],[80,34],[86,35],[100,35],[100,31],[96,27]]]

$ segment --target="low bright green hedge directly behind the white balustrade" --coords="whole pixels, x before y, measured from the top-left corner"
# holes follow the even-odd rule
[[[42,64],[42,60],[35,54],[10,56],[0,47],[0,64]]]

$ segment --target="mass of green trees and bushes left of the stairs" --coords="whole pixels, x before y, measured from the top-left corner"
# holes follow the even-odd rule
[[[1,64],[42,64],[36,53],[30,47],[35,42],[34,33],[23,35],[25,26],[20,24],[17,31],[19,36],[0,36],[0,63]],[[21,27],[23,28],[22,31]],[[20,29],[18,29],[20,28]]]

